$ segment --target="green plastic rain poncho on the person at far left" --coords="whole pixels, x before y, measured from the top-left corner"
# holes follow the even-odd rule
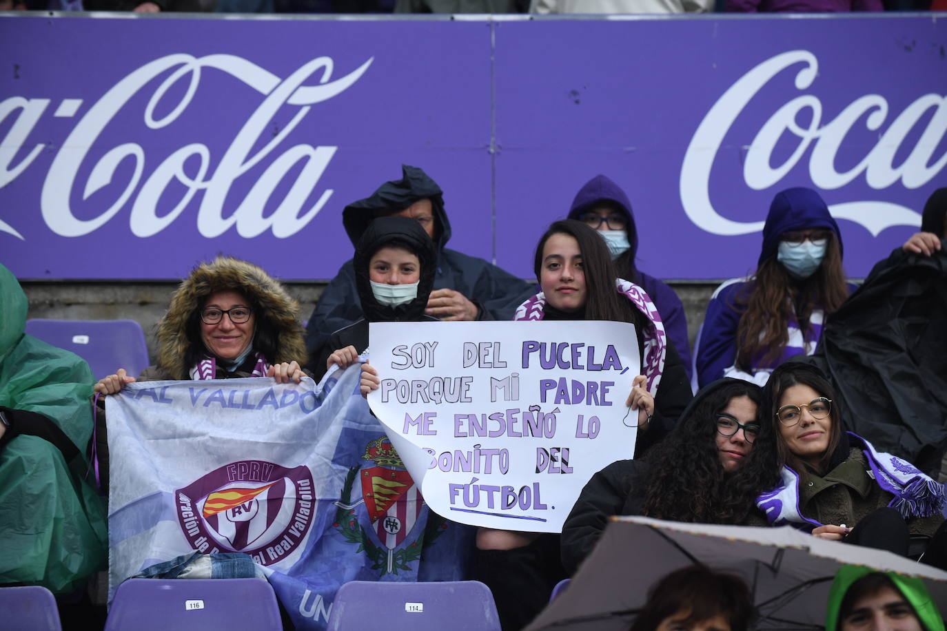
[[[45,415],[82,454],[92,434],[92,373],[76,355],[24,334],[26,322],[27,296],[0,265],[0,406]],[[82,480],[87,467],[37,436],[15,436],[0,451],[0,584],[63,593],[104,569],[105,512]]]

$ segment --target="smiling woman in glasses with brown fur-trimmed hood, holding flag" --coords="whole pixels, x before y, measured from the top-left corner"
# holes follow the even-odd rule
[[[116,394],[134,381],[276,377],[299,383],[306,344],[299,305],[258,266],[218,256],[188,275],[158,323],[158,361],[141,375],[124,369],[101,378],[94,391]],[[108,481],[104,401],[99,399],[96,448]]]

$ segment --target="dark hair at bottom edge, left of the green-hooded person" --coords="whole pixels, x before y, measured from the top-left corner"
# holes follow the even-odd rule
[[[653,631],[674,614],[687,614],[682,622],[688,625],[722,616],[730,631],[746,631],[755,610],[742,578],[697,563],[670,572],[648,589],[648,602],[631,631]]]

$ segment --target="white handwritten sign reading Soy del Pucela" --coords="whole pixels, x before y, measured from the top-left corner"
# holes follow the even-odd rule
[[[369,340],[368,403],[442,517],[559,533],[585,482],[634,454],[632,324],[372,323]]]

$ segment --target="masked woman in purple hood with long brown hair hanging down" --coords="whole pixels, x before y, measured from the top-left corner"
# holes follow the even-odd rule
[[[763,225],[757,271],[714,291],[695,343],[698,384],[737,377],[763,385],[786,359],[815,351],[827,315],[854,289],[842,236],[811,188],[777,193]]]

